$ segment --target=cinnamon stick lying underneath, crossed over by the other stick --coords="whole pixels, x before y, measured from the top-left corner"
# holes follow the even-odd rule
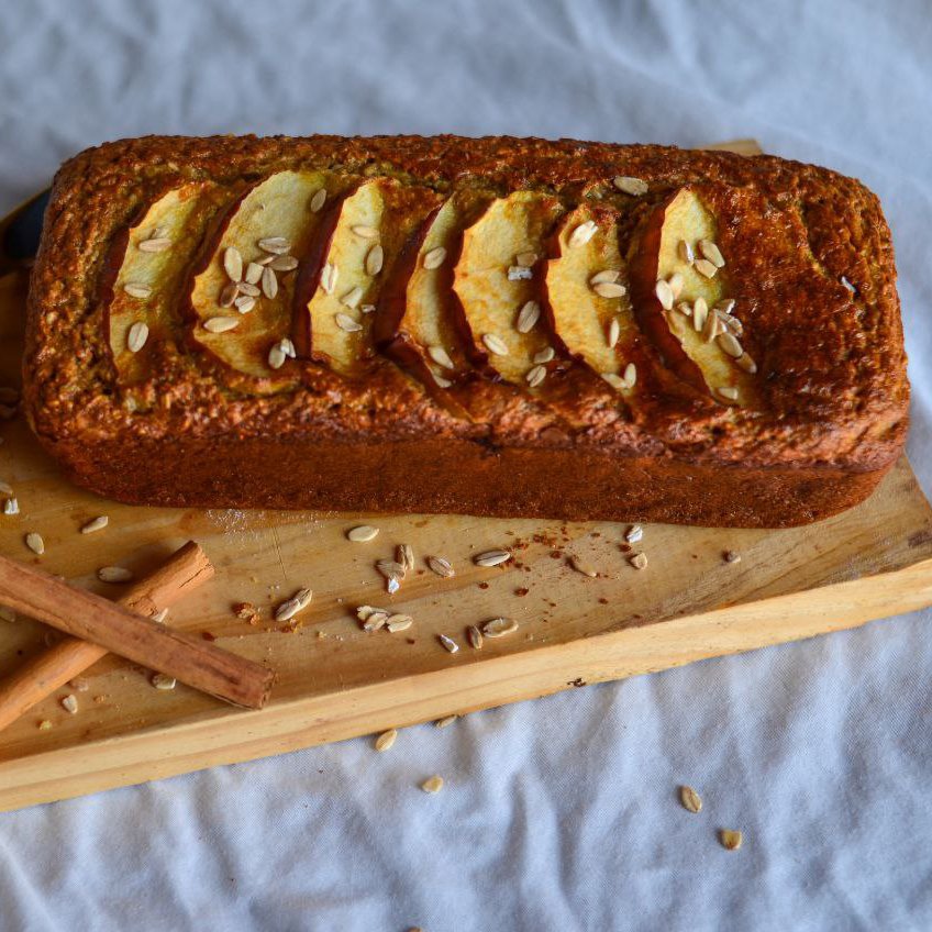
[[[212,577],[213,565],[207,554],[188,541],[162,566],[134,582],[119,601],[147,618]],[[66,637],[26,661],[12,676],[0,680],[0,731],[108,653],[88,641]]]

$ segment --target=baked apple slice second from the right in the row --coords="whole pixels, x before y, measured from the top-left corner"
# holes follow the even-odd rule
[[[589,224],[595,232],[587,238]],[[629,365],[640,329],[628,293],[628,264],[619,251],[617,212],[581,204],[564,218],[553,245],[556,255],[547,263],[545,281],[561,348],[615,389],[633,390],[636,368]]]

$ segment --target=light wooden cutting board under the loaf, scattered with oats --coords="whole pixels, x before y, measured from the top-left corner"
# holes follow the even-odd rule
[[[0,279],[2,385],[20,380],[24,297],[22,276]],[[868,501],[809,528],[645,525],[637,548],[650,562],[637,570],[628,563],[621,524],[115,504],[65,480],[21,419],[0,426],[0,478],[21,508],[18,517],[0,515],[0,553],[116,596],[120,587],[97,581],[98,567],[144,573],[193,539],[217,578],[173,609],[169,621],[278,672],[270,704],[248,712],[180,685],[156,690],[146,670],[107,658],[86,675],[77,714],[62,708],[59,690],[0,732],[0,810],[809,637],[932,603],[932,509],[906,458]],[[98,514],[110,517],[109,526],[80,534]],[[348,542],[346,531],[363,521],[379,535]],[[29,531],[43,535],[42,557],[26,550]],[[399,543],[411,544],[418,567],[389,598],[374,564]],[[515,550],[512,564],[473,564],[476,553],[501,546]],[[741,561],[726,563],[729,550]],[[456,576],[426,569],[429,555],[450,559]],[[574,570],[570,556],[598,577]],[[271,622],[269,608],[304,586],[314,600],[297,630]],[[260,607],[260,622],[236,618],[236,601]],[[366,633],[354,617],[366,603],[390,604],[414,624]],[[497,615],[518,620],[518,632],[470,648],[465,628]],[[441,646],[441,633],[458,642],[458,653]],[[0,676],[42,651],[48,636],[26,619],[0,621]],[[40,730],[43,720],[52,728]]]

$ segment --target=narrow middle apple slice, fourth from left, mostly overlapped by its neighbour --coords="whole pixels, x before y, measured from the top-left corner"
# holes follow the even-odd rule
[[[455,323],[453,267],[464,229],[492,197],[461,191],[431,213],[406,244],[379,301],[377,345],[446,404],[446,389],[473,371]]]

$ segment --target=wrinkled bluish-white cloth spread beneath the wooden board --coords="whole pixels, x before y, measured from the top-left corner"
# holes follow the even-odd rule
[[[712,7],[8,3],[0,211],[153,132],[753,135],[879,193],[932,490],[928,7]],[[930,618],[0,816],[0,928],[929,930]]]

